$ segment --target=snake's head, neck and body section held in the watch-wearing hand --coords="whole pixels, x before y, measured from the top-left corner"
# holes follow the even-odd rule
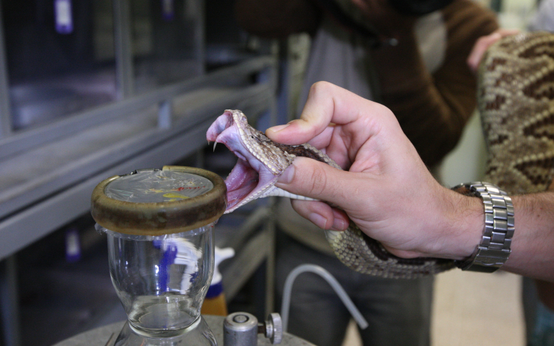
[[[341,169],[312,145],[275,143],[251,127],[246,116],[238,110],[226,110],[208,129],[206,138],[223,143],[239,158],[225,181],[229,201],[226,212],[232,212],[253,199],[268,196],[306,199],[274,186],[296,156],[310,157]],[[392,255],[375,239],[361,232],[353,222],[343,232],[325,230],[325,236],[339,260],[359,273],[407,279],[454,268],[452,260],[430,257],[404,259]]]

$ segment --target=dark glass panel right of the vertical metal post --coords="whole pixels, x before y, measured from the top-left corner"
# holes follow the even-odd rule
[[[202,1],[131,1],[136,93],[201,75]]]

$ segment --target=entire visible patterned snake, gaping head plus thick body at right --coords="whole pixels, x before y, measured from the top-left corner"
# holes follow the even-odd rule
[[[485,181],[496,183],[510,194],[548,188],[554,172],[553,84],[554,35],[505,37],[485,54],[477,91],[489,149]],[[288,196],[274,184],[296,156],[314,158],[340,169],[311,145],[274,143],[253,129],[238,110],[226,110],[208,129],[206,138],[223,143],[238,156],[238,163],[226,179],[226,212],[253,199]],[[352,222],[344,232],[325,230],[325,235],[339,260],[359,273],[415,278],[454,268],[452,260],[396,257]]]

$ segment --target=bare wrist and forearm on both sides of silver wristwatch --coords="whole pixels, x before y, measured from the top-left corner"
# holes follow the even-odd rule
[[[442,223],[452,228],[444,228],[444,248],[437,249],[435,255],[463,260],[481,242],[485,221],[483,203],[476,197],[447,196],[446,199],[449,212],[442,213],[443,220],[447,220]],[[515,210],[512,253],[501,269],[554,282],[554,193],[514,196],[512,201]]]

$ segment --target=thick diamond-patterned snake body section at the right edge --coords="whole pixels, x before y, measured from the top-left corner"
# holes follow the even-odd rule
[[[479,67],[478,102],[489,151],[483,180],[508,194],[546,190],[554,174],[554,34],[492,45]]]

